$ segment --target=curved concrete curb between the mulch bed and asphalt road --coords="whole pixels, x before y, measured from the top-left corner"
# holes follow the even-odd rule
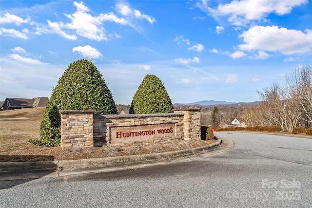
[[[39,162],[2,162],[0,163],[0,172],[3,173],[17,172],[17,171],[36,171],[36,170],[48,170],[57,172],[58,175],[62,171],[71,171],[76,169],[92,169],[103,168],[107,166],[114,166],[120,164],[131,164],[144,161],[153,161],[160,159],[176,158],[186,155],[197,154],[200,152],[208,151],[221,144],[222,140],[218,139],[215,143],[197,147],[192,149],[170,151],[153,154],[142,155],[129,155],[118,157],[105,157],[105,158],[92,158],[81,160],[60,160],[60,161],[39,161]],[[1,176],[2,178],[2,176]],[[2,180],[2,179],[0,179]]]

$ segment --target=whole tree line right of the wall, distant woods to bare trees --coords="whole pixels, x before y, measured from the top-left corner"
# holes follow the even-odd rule
[[[294,127],[312,127],[312,67],[295,69],[282,84],[272,83],[257,91],[257,104],[203,106],[201,123],[226,128],[233,118],[246,126],[280,126],[292,132]]]

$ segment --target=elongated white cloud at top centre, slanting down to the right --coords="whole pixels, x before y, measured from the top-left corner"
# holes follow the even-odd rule
[[[136,18],[136,19],[146,19],[151,24],[153,24],[156,20],[152,16],[142,14],[140,11],[136,9],[130,8],[130,6],[126,5],[124,2],[120,2],[116,4],[116,11],[126,17]]]

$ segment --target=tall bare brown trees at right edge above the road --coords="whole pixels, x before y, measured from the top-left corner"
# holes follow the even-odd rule
[[[257,92],[261,102],[242,112],[246,126],[278,125],[282,131],[312,127],[312,67],[304,65],[287,76],[283,84],[272,83]]]

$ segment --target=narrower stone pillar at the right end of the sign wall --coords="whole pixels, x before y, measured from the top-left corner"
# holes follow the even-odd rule
[[[187,141],[200,139],[200,110],[190,109],[181,112],[184,113],[183,139]]]

